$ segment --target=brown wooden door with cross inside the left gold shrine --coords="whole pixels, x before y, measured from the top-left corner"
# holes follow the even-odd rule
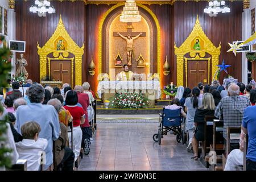
[[[51,78],[71,85],[71,60],[51,60]]]

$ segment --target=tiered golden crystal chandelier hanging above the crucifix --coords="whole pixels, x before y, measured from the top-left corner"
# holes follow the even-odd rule
[[[138,7],[135,0],[126,0],[125,7],[123,7],[120,16],[120,22],[140,22],[141,15],[139,15]]]

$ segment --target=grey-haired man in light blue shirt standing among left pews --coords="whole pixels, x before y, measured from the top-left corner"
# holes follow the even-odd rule
[[[32,84],[28,90],[28,98],[30,105],[19,106],[17,109],[17,117],[15,127],[21,134],[21,127],[29,121],[37,122],[41,127],[39,138],[48,140],[46,147],[46,165],[45,169],[51,169],[53,163],[52,142],[59,138],[60,124],[57,111],[52,105],[42,105],[44,100],[44,88],[40,84]]]

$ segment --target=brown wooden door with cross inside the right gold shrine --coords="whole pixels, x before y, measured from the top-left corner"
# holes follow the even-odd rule
[[[188,60],[188,82],[189,88],[194,88],[199,82],[208,83],[208,61]]]

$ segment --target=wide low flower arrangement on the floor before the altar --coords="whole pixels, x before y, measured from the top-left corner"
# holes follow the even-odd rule
[[[111,106],[122,109],[139,109],[146,107],[148,100],[143,93],[116,93],[114,100],[111,102]]]

